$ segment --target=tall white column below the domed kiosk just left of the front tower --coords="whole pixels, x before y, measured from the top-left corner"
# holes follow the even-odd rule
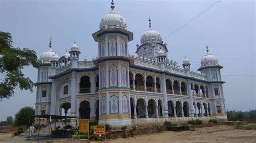
[[[77,105],[77,72],[71,73],[71,116],[76,116]]]

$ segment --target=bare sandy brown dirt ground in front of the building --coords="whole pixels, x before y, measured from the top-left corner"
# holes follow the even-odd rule
[[[196,128],[196,131],[165,131],[156,134],[135,135],[132,138],[112,139],[105,142],[256,142],[255,130],[235,130],[233,126]],[[2,134],[0,134],[0,139]],[[47,139],[26,141],[24,137],[11,137],[0,142],[46,142]],[[73,139],[53,139],[53,142],[86,142]],[[97,142],[97,141],[90,141]],[[99,141],[98,141],[99,142]]]

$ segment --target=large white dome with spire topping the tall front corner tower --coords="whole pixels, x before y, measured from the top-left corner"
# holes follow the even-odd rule
[[[111,3],[111,12],[107,13],[103,18],[102,21],[99,23],[99,29],[112,29],[112,28],[123,28],[126,29],[126,22],[125,19],[118,15],[118,13],[114,12],[114,3]]]

